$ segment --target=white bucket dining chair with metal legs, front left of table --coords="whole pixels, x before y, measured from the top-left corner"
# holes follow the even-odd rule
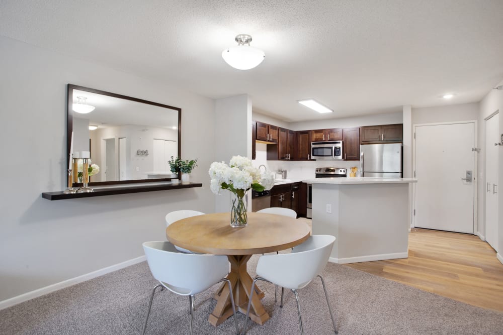
[[[179,253],[170,242],[145,242],[143,243],[143,250],[150,272],[159,281],[159,284],[153,288],[150,296],[143,334],[147,328],[148,316],[157,287],[160,287],[161,291],[167,288],[173,293],[189,296],[191,315],[189,333],[192,334],[195,305],[194,295],[207,290],[219,282],[226,282],[229,286],[236,333],[239,333],[231,283],[230,280],[224,278],[229,274],[227,256],[183,254]]]

